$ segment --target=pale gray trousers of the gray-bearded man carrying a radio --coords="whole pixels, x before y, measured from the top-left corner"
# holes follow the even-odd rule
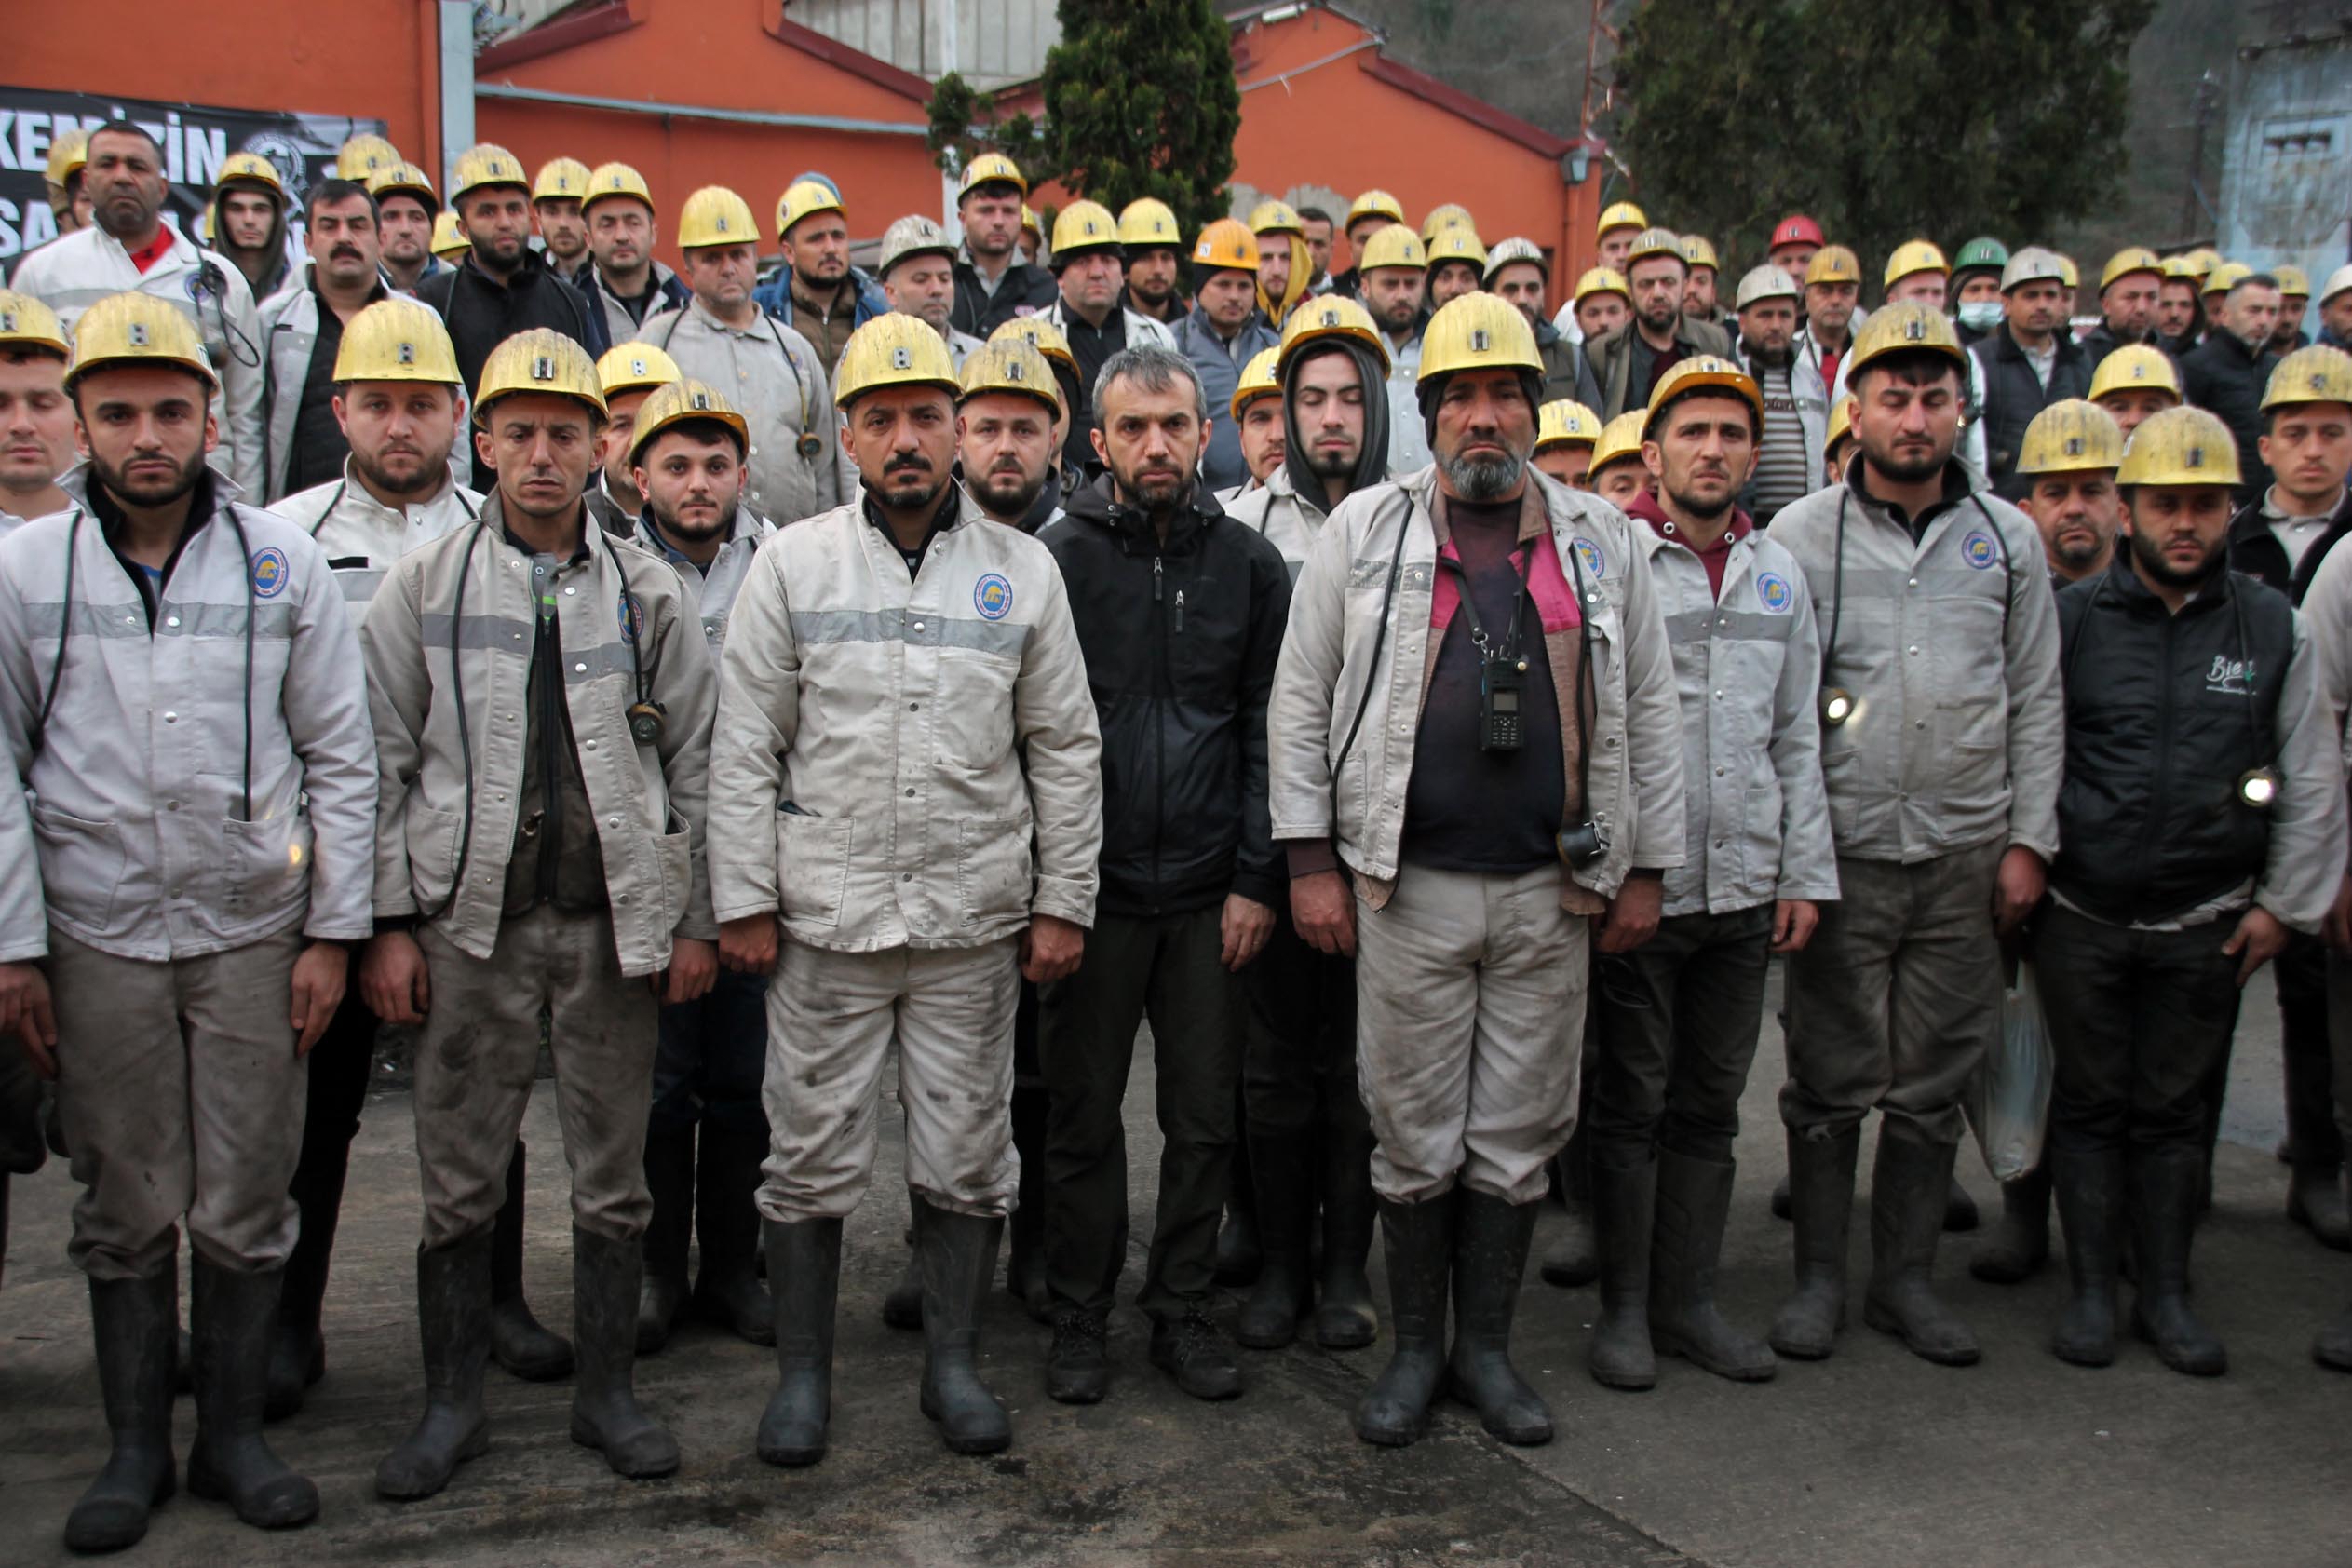
[[[1590,978],[1588,922],[1559,867],[1522,875],[1404,865],[1378,910],[1355,903],[1357,1072],[1371,1187],[1418,1204],[1454,1182],[1543,1197],[1576,1126]]]

